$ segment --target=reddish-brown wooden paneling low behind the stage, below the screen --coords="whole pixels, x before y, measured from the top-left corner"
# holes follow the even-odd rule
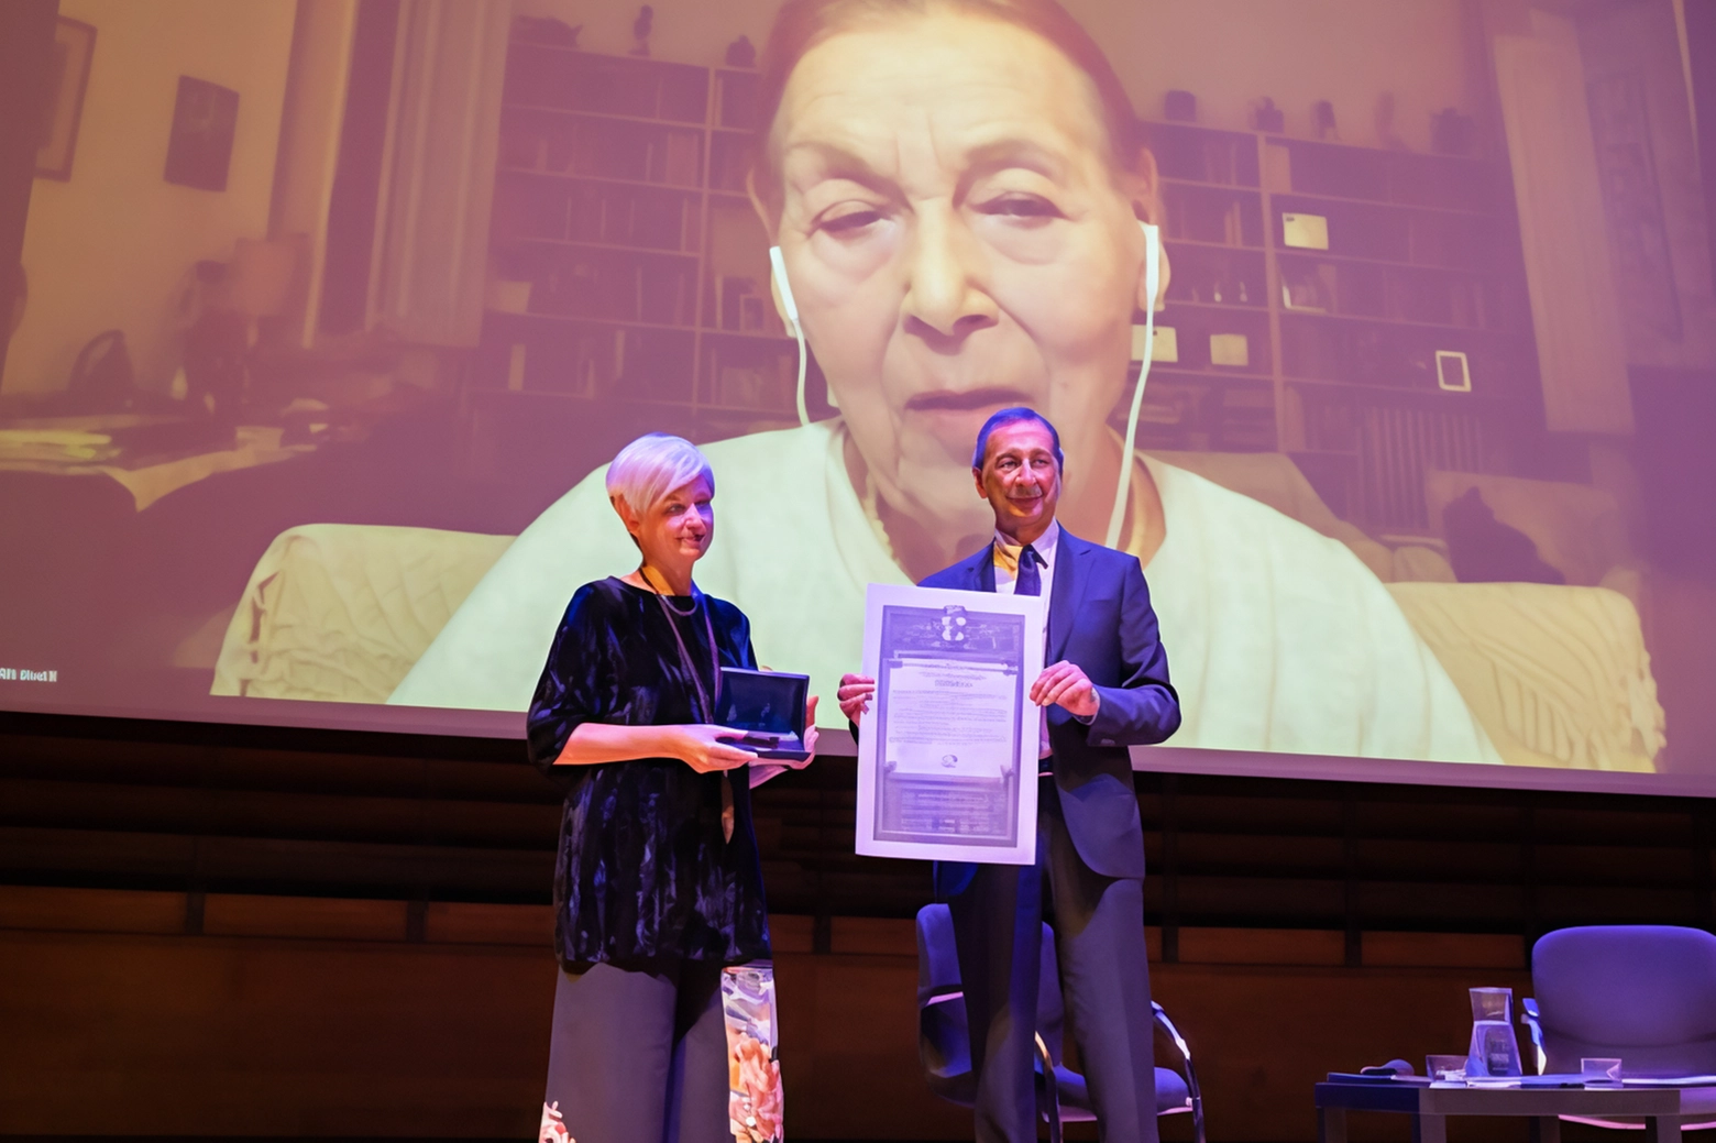
[[[1211,1138],[1309,1140],[1323,1073],[1460,1050],[1467,987],[1529,994],[1471,939],[1395,942],[1484,963],[1364,970],[1330,963],[1340,932],[1182,939],[1211,959],[1273,959],[1151,970],[1198,1057]],[[970,1138],[968,1112],[918,1074],[913,954],[779,952],[776,971],[793,1138]],[[535,1122],[546,944],[9,930],[0,973],[3,1133],[93,1136],[115,1109],[124,1134],[523,1138]]]

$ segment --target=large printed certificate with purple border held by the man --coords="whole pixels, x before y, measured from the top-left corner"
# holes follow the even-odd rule
[[[872,584],[858,735],[858,853],[1028,865],[1036,860],[1045,602]]]

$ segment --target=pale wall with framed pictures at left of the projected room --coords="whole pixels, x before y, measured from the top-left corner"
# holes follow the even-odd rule
[[[139,383],[178,366],[178,290],[192,263],[268,233],[295,0],[60,0],[96,29],[70,182],[38,178],[24,230],[29,309],[7,395],[65,386],[86,340],[118,328]],[[178,77],[239,91],[227,190],[166,182]]]

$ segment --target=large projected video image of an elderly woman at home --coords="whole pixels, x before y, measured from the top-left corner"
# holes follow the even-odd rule
[[[865,585],[990,542],[976,429],[1030,405],[1062,525],[1145,565],[1172,747],[1716,779],[1668,0],[652,7],[63,0],[0,707],[522,733],[637,566],[602,465],[668,431],[716,470],[700,587],[843,726]],[[221,190],[149,149],[163,38],[237,93]]]

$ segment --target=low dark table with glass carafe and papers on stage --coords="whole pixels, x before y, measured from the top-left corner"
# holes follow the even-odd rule
[[[1412,1143],[1445,1143],[1448,1116],[1532,1121],[1536,1143],[1560,1143],[1560,1116],[1644,1119],[1644,1143],[1680,1138],[1683,1119],[1716,1119],[1716,1088],[1469,1088],[1464,1083],[1320,1083],[1318,1143],[1347,1143],[1347,1112],[1412,1116]]]

